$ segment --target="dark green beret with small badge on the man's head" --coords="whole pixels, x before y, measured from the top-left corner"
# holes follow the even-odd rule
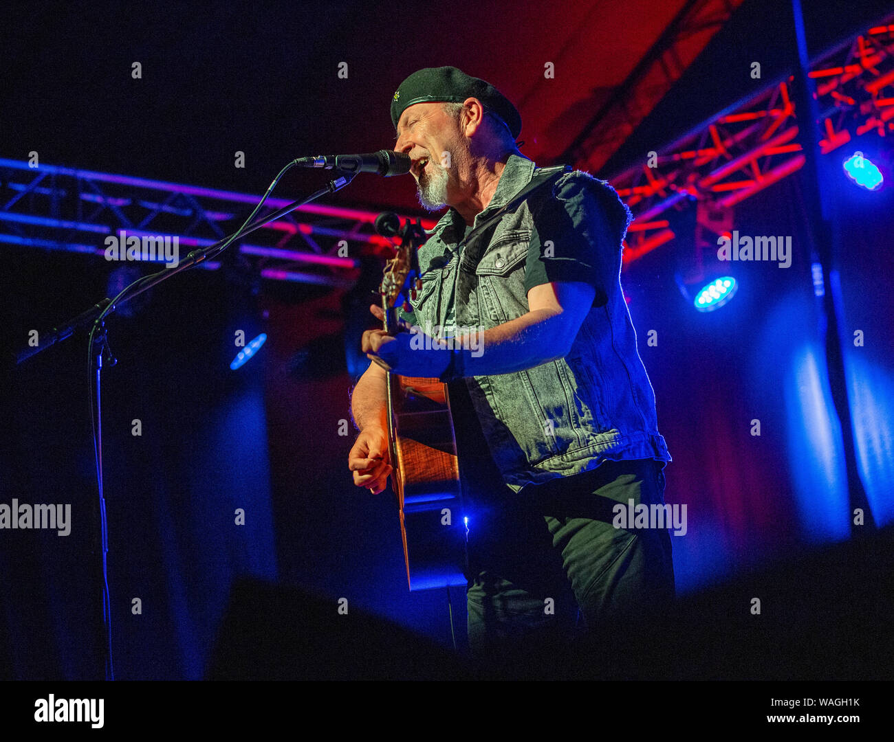
[[[397,130],[401,113],[417,103],[462,103],[466,98],[477,98],[485,110],[496,113],[510,130],[519,137],[521,116],[509,98],[483,79],[469,77],[456,67],[426,67],[413,72],[401,82],[392,98],[392,123]]]

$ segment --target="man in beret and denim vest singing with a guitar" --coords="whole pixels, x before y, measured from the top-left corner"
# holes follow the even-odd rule
[[[391,115],[420,203],[450,207],[418,251],[422,288],[401,318],[456,350],[364,334],[377,362],[351,399],[354,483],[378,493],[392,471],[379,362],[440,378],[474,513],[473,653],[495,662],[581,625],[610,638],[657,620],[674,593],[668,531],[612,524],[615,505],[663,503],[671,461],[620,288],[626,205],[586,172],[537,168],[516,145],[515,106],[455,67],[414,72]]]

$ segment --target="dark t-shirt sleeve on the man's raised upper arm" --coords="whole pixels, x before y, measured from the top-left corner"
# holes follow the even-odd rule
[[[586,281],[602,306],[618,283],[621,240],[630,211],[614,188],[586,172],[562,176],[552,196],[531,206],[534,227],[525,264],[525,291],[552,281]]]

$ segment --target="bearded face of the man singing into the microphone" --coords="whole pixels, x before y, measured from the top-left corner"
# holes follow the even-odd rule
[[[417,103],[401,113],[395,152],[409,154],[419,203],[430,212],[451,204],[457,195],[458,159],[466,150],[457,122],[440,103]]]

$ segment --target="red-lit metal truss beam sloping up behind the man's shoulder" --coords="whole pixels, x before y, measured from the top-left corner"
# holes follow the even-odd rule
[[[823,54],[811,64],[817,80],[822,154],[868,131],[894,134],[894,25],[891,19]],[[790,95],[792,77],[734,104],[657,153],[611,178],[637,221],[630,225],[624,263],[674,238],[668,217],[682,202],[729,210],[798,171],[805,162]]]

